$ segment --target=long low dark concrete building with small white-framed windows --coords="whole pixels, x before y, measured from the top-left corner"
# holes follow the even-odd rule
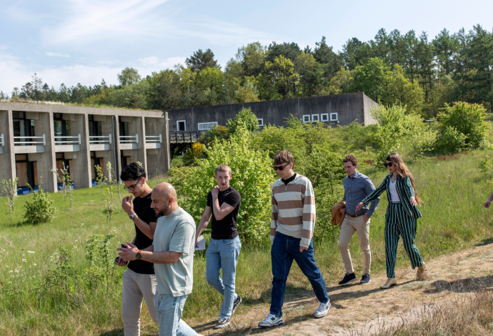
[[[327,122],[332,127],[349,125],[357,121],[364,125],[375,124],[369,108],[378,106],[364,92],[333,94],[330,96],[271,100],[213,107],[191,107],[166,110],[170,131],[206,132],[213,125],[226,125],[242,108],[252,108],[259,126],[272,124],[285,126],[291,114],[303,122]]]

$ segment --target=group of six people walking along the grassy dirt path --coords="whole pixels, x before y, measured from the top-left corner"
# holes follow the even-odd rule
[[[371,281],[370,217],[378,207],[379,196],[386,190],[389,200],[385,216],[388,280],[381,288],[387,289],[397,284],[394,269],[399,237],[404,241],[404,249],[413,269],[417,268],[417,280],[423,279],[424,262],[414,244],[417,219],[422,216],[417,209],[421,200],[402,158],[396,153],[389,154],[385,164],[389,174],[377,189],[368,177],[358,172],[356,157],[347,155],[343,164],[347,172],[344,197],[332,208],[333,223],[341,224],[339,249],[346,269],[339,285],[348,285],[357,280],[349,253],[349,241],[355,232],[364,262],[360,283]],[[313,316],[322,318],[331,307],[324,277],[314,259],[316,211],[312,183],[307,177],[294,172],[294,159],[287,151],[276,154],[273,168],[280,178],[272,186],[272,298],[269,314],[259,322],[259,327],[283,323],[284,293],[293,261],[308,278],[319,301]],[[231,315],[241,304],[241,297],[235,291],[236,265],[241,252],[236,229],[241,195],[229,185],[231,168],[226,164],[216,167],[214,179],[217,185],[207,195],[206,208],[198,227],[190,214],[179,207],[176,191],[171,184],[164,182],[151,189],[146,184],[144,169],[136,163],[127,165],[120,177],[125,184],[124,189],[135,197],[125,197],[121,207],[129,214],[136,230],[134,241],[121,244],[116,259],[117,265],[127,266],[122,290],[124,335],[140,335],[139,321],[144,298],[152,320],[159,323],[160,336],[198,335],[181,320],[181,314],[192,290],[194,249],[209,222],[211,239],[206,249],[206,280],[224,297],[214,328],[229,325]],[[493,198],[493,193],[490,198]]]

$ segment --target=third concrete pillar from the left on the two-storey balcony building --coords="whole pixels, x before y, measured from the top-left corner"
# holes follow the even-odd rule
[[[91,188],[91,152],[89,148],[89,118],[87,114],[69,114],[74,119],[70,122],[71,134],[81,134],[80,152],[66,153],[66,159],[72,159],[72,177],[76,189]]]

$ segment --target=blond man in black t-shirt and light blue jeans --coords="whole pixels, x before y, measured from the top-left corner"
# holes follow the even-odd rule
[[[216,167],[216,187],[207,195],[207,205],[200,219],[195,235],[195,246],[200,234],[211,220],[211,240],[206,251],[206,280],[222,296],[221,316],[214,329],[229,325],[231,315],[241,303],[241,297],[234,292],[236,262],[241,242],[236,229],[241,196],[229,186],[231,168],[227,164]],[[219,272],[222,268],[222,279]]]

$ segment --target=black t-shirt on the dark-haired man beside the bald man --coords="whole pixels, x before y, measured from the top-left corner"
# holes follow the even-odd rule
[[[151,202],[151,194],[148,194],[146,197],[143,198],[136,197],[134,199],[134,212],[147,224],[157,221],[156,213],[153,209],[151,209]],[[152,239],[142,233],[139,227],[135,225],[134,245],[138,249],[145,249],[146,247],[151,246],[151,244]],[[132,260],[131,262],[129,262],[128,267],[130,270],[142,275],[154,274],[154,264],[152,262],[146,262],[144,260]]]

